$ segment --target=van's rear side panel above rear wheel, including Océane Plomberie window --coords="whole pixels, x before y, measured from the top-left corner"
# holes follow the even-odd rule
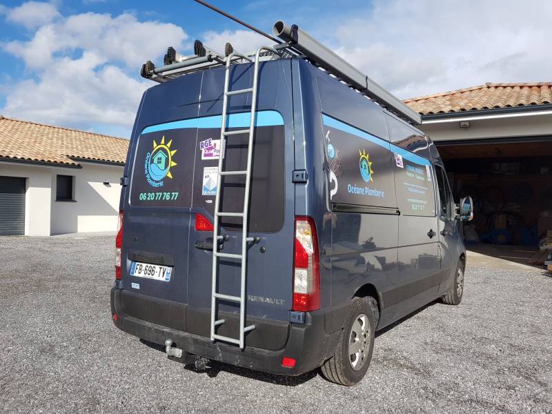
[[[331,168],[331,284],[336,303],[363,284],[385,295],[397,274],[398,215],[388,141],[322,115]]]

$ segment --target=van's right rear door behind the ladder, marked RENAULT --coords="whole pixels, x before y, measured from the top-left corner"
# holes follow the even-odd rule
[[[233,66],[230,90],[250,88],[253,65]],[[190,275],[188,277],[188,331],[208,336],[210,330],[213,253],[202,246],[213,242],[213,233],[196,229],[197,214],[213,223],[214,175],[217,171],[224,70],[204,72],[201,89],[199,129],[195,157],[193,217],[190,230]],[[228,130],[248,128],[251,94],[229,97]],[[271,319],[281,324],[273,330],[257,328],[248,333],[248,344],[264,338],[262,347],[282,348],[287,339],[288,311],[291,308],[293,274],[293,129],[289,59],[261,63],[255,136],[253,144],[248,236],[259,237],[250,244],[246,262],[246,315]],[[212,121],[213,120],[213,121]],[[226,138],[224,170],[245,170],[248,135]],[[215,154],[209,148],[215,148]],[[212,184],[210,184],[212,183]],[[220,211],[241,213],[244,204],[244,176],[226,176],[221,182]],[[220,233],[227,237],[222,253],[242,253],[242,219],[221,218]],[[217,292],[239,296],[240,262],[219,259]],[[218,311],[239,313],[239,304],[217,301]],[[255,321],[246,321],[247,324]],[[281,331],[281,332],[280,332]],[[280,333],[277,333],[280,332]],[[226,322],[221,335],[237,337],[237,325]],[[267,341],[267,338],[271,338]]]

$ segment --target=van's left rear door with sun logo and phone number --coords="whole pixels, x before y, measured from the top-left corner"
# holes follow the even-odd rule
[[[167,85],[150,88],[139,112],[137,137],[131,146],[130,191],[125,200],[127,266],[123,286],[186,304],[201,74],[175,83],[181,83],[186,93],[172,94]],[[168,266],[170,275],[163,280],[130,276],[134,262]],[[181,322],[179,326],[184,326]]]

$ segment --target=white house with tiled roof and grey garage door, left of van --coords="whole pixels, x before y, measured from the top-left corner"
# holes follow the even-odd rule
[[[0,235],[115,231],[128,139],[0,115]]]

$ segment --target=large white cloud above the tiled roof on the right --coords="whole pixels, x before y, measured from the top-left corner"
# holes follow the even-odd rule
[[[549,81],[551,15],[547,0],[376,0],[339,25],[333,41],[374,81],[408,98],[487,81]]]

